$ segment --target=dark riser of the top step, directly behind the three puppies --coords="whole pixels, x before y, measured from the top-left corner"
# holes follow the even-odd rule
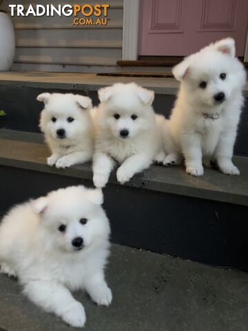
[[[43,92],[51,91],[85,94],[92,98],[94,105],[99,103],[96,90],[78,90],[76,86],[74,90],[0,86],[0,110],[7,113],[6,117],[0,117],[0,128],[39,132],[39,114],[43,105],[36,98]],[[172,94],[156,94],[155,111],[169,117],[175,98],[175,95]],[[248,98],[246,98],[245,108],[242,112],[234,154],[248,156]]]

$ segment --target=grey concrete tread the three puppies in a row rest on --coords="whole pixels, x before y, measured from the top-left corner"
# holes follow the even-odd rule
[[[62,174],[64,176],[92,179],[90,164],[56,169],[46,164],[49,151],[39,134],[0,130],[0,164],[15,168]],[[197,197],[221,202],[248,205],[248,159],[234,157],[241,171],[240,176],[227,176],[214,169],[205,169],[203,177],[186,174],[184,166],[166,168],[152,165],[142,174],[134,176],[129,183],[136,188],[156,190],[173,194]],[[113,173],[110,183],[117,183]]]

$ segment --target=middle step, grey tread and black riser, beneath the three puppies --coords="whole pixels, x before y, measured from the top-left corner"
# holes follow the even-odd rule
[[[41,134],[0,130],[0,210],[67,185],[92,185],[90,164],[65,170],[46,164]],[[235,157],[240,177],[154,165],[120,185],[113,173],[104,189],[112,240],[214,265],[248,270],[248,159]],[[114,203],[113,203],[114,201]]]

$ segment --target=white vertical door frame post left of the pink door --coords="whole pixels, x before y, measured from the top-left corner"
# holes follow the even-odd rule
[[[125,61],[138,59],[140,0],[123,0],[123,56]]]

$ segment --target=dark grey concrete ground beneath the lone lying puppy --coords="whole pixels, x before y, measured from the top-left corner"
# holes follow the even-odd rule
[[[110,308],[86,294],[87,331],[246,331],[248,275],[172,257],[112,246],[107,279]],[[32,305],[17,281],[0,276],[0,330],[69,331],[52,314]]]

